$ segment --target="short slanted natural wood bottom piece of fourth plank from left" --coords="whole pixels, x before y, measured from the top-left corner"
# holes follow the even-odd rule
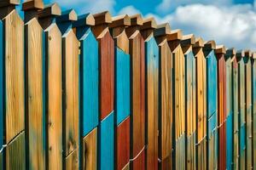
[[[65,169],[79,169],[79,149],[73,150],[73,152],[65,158]]]

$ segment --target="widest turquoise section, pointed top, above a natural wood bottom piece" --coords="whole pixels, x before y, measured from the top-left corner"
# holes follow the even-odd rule
[[[98,42],[90,27],[77,28],[80,53],[80,119],[81,133],[86,136],[99,120],[99,54]]]

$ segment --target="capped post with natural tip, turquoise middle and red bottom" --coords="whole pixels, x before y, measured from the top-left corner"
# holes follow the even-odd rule
[[[125,27],[131,26],[128,15],[112,18],[109,25],[114,40],[114,124],[115,168],[129,169],[130,160],[130,54]]]

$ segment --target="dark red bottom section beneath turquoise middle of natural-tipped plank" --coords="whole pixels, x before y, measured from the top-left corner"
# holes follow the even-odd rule
[[[130,161],[130,116],[116,129],[116,168],[125,169]]]

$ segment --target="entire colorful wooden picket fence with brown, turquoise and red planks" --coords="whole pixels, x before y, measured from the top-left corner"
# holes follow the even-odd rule
[[[255,167],[256,54],[18,4],[0,1],[0,170]]]

